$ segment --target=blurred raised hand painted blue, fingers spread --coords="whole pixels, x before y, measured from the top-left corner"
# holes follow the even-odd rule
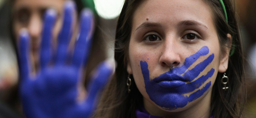
[[[88,59],[91,46],[93,14],[90,10],[82,11],[80,36],[76,42],[72,63],[66,64],[74,9],[73,2],[65,4],[56,60],[51,66],[48,65],[53,58],[50,42],[57,14],[54,10],[46,11],[40,53],[41,70],[35,76],[30,75],[29,34],[26,30],[20,33],[20,94],[27,118],[89,118],[96,105],[97,93],[105,87],[112,74],[113,65],[109,62],[101,63],[91,79],[93,81],[88,87],[86,99],[78,102],[78,85],[83,72],[81,65]]]

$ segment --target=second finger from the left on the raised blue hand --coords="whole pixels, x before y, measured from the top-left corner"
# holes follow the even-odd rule
[[[51,40],[53,35],[53,26],[56,20],[57,13],[54,9],[48,9],[44,16],[44,26],[42,34],[41,43],[41,54],[40,54],[40,64],[43,69],[46,67],[51,58]]]

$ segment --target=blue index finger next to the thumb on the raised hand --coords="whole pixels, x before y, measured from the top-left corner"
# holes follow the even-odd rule
[[[80,20],[80,36],[76,42],[72,62],[73,65],[78,68],[81,66],[82,62],[87,62],[91,48],[91,37],[94,27],[92,11],[90,9],[83,10]]]

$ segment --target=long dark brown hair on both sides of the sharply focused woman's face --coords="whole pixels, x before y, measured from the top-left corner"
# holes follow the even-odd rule
[[[143,0],[125,0],[123,9],[117,22],[115,40],[115,59],[117,61],[116,76],[111,80],[107,90],[103,92],[100,103],[94,114],[94,118],[136,118],[135,110],[143,103],[143,96],[140,94],[135,82],[132,79],[131,92],[128,93],[126,81],[128,77],[127,59],[128,45],[131,35],[133,13]],[[243,52],[241,47],[240,30],[235,14],[233,0],[224,0],[228,14],[226,22],[223,8],[219,0],[204,0],[213,11],[213,20],[219,36],[222,54],[224,49],[231,48],[235,53],[229,57],[229,68],[226,75],[229,77],[229,89],[222,90],[220,82],[222,73],[218,73],[216,82],[213,85],[211,98],[211,114],[214,118],[240,118],[245,103],[245,78],[243,76]],[[232,36],[232,45],[227,46],[229,39],[227,34]]]

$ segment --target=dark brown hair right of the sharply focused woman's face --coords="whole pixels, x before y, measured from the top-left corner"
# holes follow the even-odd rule
[[[243,117],[243,108],[246,101],[244,55],[241,45],[240,28],[235,12],[234,0],[223,0],[226,7],[228,22],[224,16],[224,10],[219,0],[204,0],[213,11],[213,20],[218,32],[221,50],[231,48],[235,52],[229,55],[229,65],[226,71],[229,77],[229,89],[224,91],[220,82],[223,73],[218,73],[213,85],[211,98],[211,113],[214,118],[240,118]],[[232,36],[232,46],[227,46],[227,34]],[[230,54],[231,54],[230,53]]]

